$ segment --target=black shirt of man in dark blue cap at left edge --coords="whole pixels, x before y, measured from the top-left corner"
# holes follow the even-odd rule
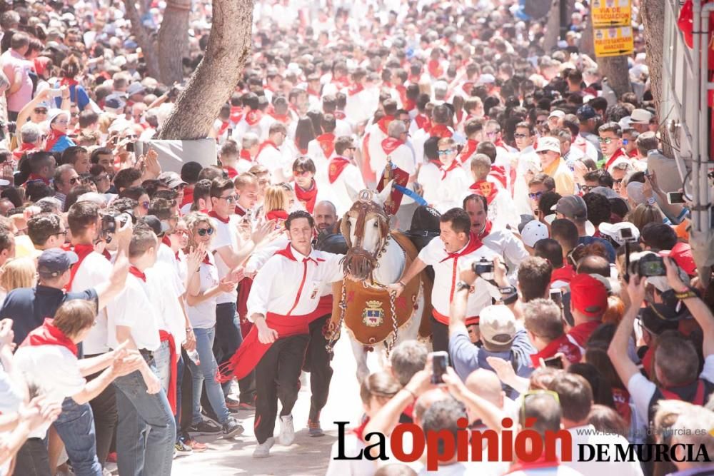
[[[45,318],[54,318],[59,306],[66,300],[86,299],[99,303],[94,288],[80,293],[65,293],[61,289],[37,285],[36,288],[11,290],[2,308],[0,319],[12,319],[15,333],[14,343],[20,345],[27,335],[44,323]]]

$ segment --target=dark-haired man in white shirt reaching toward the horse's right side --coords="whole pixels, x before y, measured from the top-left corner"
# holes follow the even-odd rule
[[[491,263],[497,255],[491,248],[483,246],[475,233],[471,233],[471,220],[463,208],[452,208],[439,218],[439,222],[441,236],[431,240],[419,252],[418,258],[406,271],[403,280],[389,285],[389,288],[399,295],[406,283],[416,278],[426,266],[433,267],[431,303],[434,309],[430,319],[435,351],[448,350],[449,308],[457,290],[459,271],[481,258],[486,258]],[[478,278],[473,289],[474,292],[468,297],[467,325],[478,323],[478,313],[487,305],[491,305],[492,297],[501,297],[498,289],[482,278]]]

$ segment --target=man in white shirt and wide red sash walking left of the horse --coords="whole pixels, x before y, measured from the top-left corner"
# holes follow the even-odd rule
[[[275,440],[273,430],[278,398],[282,403],[279,440],[295,439],[293,405],[298,397],[298,378],[308,345],[308,325],[324,315],[318,308],[325,283],[343,278],[343,255],[314,250],[315,222],[306,211],[296,211],[285,222],[290,244],[268,259],[253,279],[248,296],[248,316],[255,327],[239,350],[236,375],[256,365],[256,438],[253,457],[268,457]],[[251,359],[246,363],[243,358]],[[257,360],[257,363],[256,363]],[[279,391],[278,391],[279,389]]]

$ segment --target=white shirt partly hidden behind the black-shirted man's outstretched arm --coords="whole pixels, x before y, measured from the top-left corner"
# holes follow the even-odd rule
[[[89,288],[96,288],[97,285],[109,281],[110,275],[111,263],[109,260],[104,255],[92,251],[79,263],[70,291],[79,293]],[[106,332],[106,310],[102,309],[96,315],[89,334],[82,341],[82,350],[85,355],[103,354],[109,351],[109,346],[106,345]]]

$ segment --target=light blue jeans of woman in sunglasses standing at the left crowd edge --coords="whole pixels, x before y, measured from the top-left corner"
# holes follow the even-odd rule
[[[191,375],[193,375],[193,424],[196,425],[201,421],[201,385],[205,382],[208,401],[211,402],[211,407],[216,412],[218,422],[223,425],[228,420],[228,408],[221,384],[216,382],[218,364],[216,358],[213,357],[213,338],[216,337],[216,328],[193,328],[193,334],[196,335],[196,351],[198,360],[201,361],[201,365],[198,367],[193,363],[193,360],[188,359],[187,361],[191,366]]]

